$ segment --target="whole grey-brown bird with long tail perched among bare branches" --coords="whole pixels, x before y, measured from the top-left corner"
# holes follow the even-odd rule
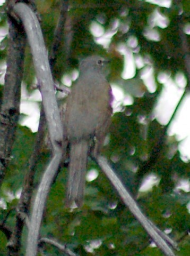
[[[113,97],[105,72],[109,62],[98,55],[83,59],[66,99],[64,127],[70,156],[66,207],[83,205],[88,155],[93,144],[93,155],[100,154],[110,126]]]

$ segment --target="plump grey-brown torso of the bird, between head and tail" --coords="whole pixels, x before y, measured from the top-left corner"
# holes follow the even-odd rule
[[[66,126],[69,140],[90,138],[100,120],[109,113],[110,86],[105,79],[81,79],[67,101]]]

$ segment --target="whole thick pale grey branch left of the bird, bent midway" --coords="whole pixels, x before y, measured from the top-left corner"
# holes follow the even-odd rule
[[[34,67],[36,69],[38,84],[42,95],[42,103],[47,120],[51,146],[53,149],[53,158],[48,164],[44,176],[42,177],[32,209],[26,255],[34,256],[37,254],[42,213],[44,211],[50,185],[62,159],[63,127],[55,98],[54,83],[51,76],[44,38],[41,33],[38,19],[30,8],[23,3],[16,4],[13,10],[22,21],[31,47]]]

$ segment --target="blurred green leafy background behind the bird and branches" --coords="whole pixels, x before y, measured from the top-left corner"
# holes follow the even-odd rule
[[[168,2],[169,7],[165,7]],[[50,49],[59,15],[59,1],[37,1],[37,8],[47,49]],[[179,35],[180,29],[189,26],[189,10],[190,3],[187,0],[179,3],[137,0],[70,1],[63,50],[55,67],[56,82],[62,85],[66,78],[68,82],[73,70],[77,70],[77,60],[80,58],[96,53],[111,59],[108,79],[113,87],[120,89],[122,99],[114,102],[113,122],[102,154],[107,156],[143,212],[160,229],[166,230],[178,241],[180,250],[176,255],[188,255],[190,250],[187,235],[189,193],[178,188],[180,181],[189,178],[190,164],[188,159],[184,162],[180,154],[179,141],[174,135],[168,134],[169,125],[160,124],[154,116],[154,110],[165,86],[158,79],[160,74],[169,74],[171,79],[175,79],[177,74],[183,74],[187,80],[184,94],[189,93],[189,74],[184,61],[187,53],[182,49],[182,38]],[[164,28],[153,25],[151,19],[155,17],[155,13],[168,21]],[[6,24],[3,5],[0,20],[2,31],[6,31]],[[107,37],[104,46],[97,43],[101,37],[94,36],[99,28],[100,32],[103,31],[102,36]],[[147,36],[149,33],[152,33],[150,37]],[[187,34],[186,40],[189,43]],[[0,51],[2,77],[7,43],[5,35],[2,37]],[[122,51],[129,53],[126,61]],[[138,59],[142,60],[140,67],[136,65]],[[128,62],[135,67],[131,77],[133,79],[124,79],[122,76]],[[156,85],[153,91],[143,80],[145,68],[153,70]],[[1,84],[2,94],[3,78]],[[28,98],[33,93],[33,84],[33,63],[30,50],[27,49],[23,87],[27,90]],[[60,93],[58,96],[61,97]],[[126,103],[127,99],[131,103]],[[37,101],[37,104],[40,106],[40,102]],[[21,123],[23,118],[25,116],[21,115]],[[0,218],[3,221],[8,215],[6,225],[10,228],[14,226],[16,205],[35,135],[28,127],[19,125],[12,161],[1,190]],[[161,147],[156,152],[156,145],[159,144]],[[151,158],[152,155],[155,159]],[[45,146],[35,177],[36,187],[48,158]],[[150,158],[153,159],[151,163]],[[58,174],[48,198],[41,235],[56,238],[79,255],[162,255],[126,209],[105,175],[90,159],[88,171],[89,179],[93,179],[92,173],[96,174],[95,179],[87,182],[84,206],[72,211],[64,207],[66,168]],[[155,184],[142,191],[142,182],[150,177],[154,177]],[[24,230],[22,238],[22,255],[26,232]],[[0,255],[6,255],[6,243],[6,238],[0,231]],[[60,255],[57,249],[49,245],[44,246],[44,251],[46,255]]]

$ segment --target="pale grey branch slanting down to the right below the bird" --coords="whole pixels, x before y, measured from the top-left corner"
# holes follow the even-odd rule
[[[152,238],[154,243],[156,243],[156,245],[166,256],[175,256],[174,252],[172,252],[169,245],[176,248],[176,243],[173,242],[166,234],[163,234],[161,230],[158,231],[158,228],[154,226],[153,223],[145,217],[137,203],[134,201],[133,197],[126,190],[126,188],[119,180],[113,169],[111,169],[106,158],[99,156],[98,158],[96,158],[96,161],[102,169],[102,171],[107,175],[108,179],[113,184],[115,189],[117,190],[119,196],[122,198],[122,201],[132,212],[137,221],[141,223],[142,227],[146,230],[146,232]]]

